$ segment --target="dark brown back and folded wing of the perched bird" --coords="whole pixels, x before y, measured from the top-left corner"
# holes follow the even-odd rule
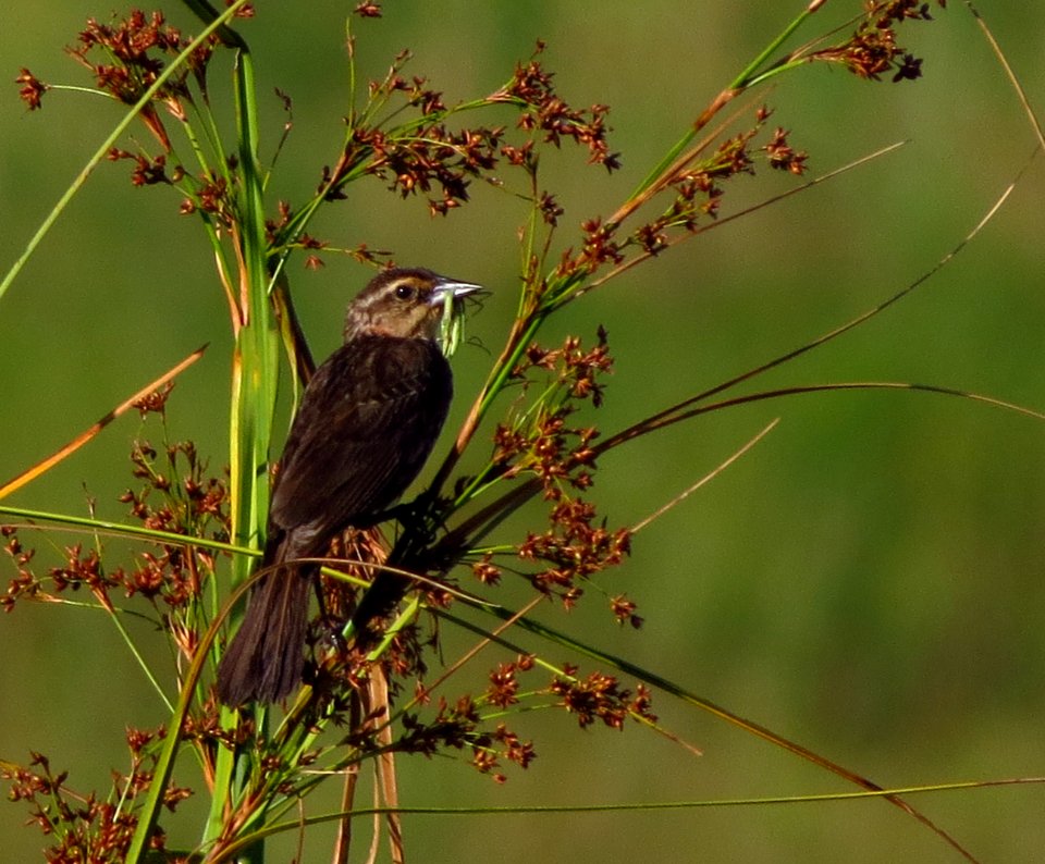
[[[450,367],[421,340],[361,336],[317,371],[294,419],[269,510],[274,528],[315,538],[391,505],[420,471],[446,416]],[[308,554],[295,543],[296,554]]]

